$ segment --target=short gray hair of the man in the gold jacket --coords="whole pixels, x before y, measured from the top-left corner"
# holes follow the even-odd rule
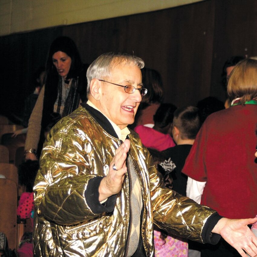
[[[125,61],[127,64],[138,66],[139,69],[144,68],[145,62],[136,56],[130,54],[109,52],[100,55],[96,60],[91,63],[86,72],[87,78],[87,95],[90,93],[90,82],[92,79],[103,79],[104,77],[111,76],[111,69],[114,64],[119,64]]]

